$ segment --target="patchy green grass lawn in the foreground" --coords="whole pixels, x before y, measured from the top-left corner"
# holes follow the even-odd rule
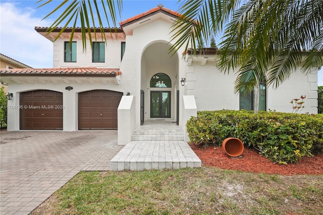
[[[81,172],[31,214],[323,214],[323,175]]]

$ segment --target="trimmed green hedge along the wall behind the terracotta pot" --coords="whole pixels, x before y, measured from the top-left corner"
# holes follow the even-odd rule
[[[202,111],[187,122],[195,144],[221,145],[227,137],[242,140],[272,162],[297,163],[303,156],[323,153],[323,115],[279,112]]]

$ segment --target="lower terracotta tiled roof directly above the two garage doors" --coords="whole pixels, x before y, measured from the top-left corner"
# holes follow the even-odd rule
[[[119,69],[106,69],[96,67],[82,67],[82,68],[50,68],[50,69],[1,69],[1,75],[121,75]]]

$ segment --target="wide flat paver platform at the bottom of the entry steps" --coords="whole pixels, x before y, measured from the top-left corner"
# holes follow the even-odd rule
[[[131,141],[111,160],[111,171],[142,171],[201,167],[184,141]]]

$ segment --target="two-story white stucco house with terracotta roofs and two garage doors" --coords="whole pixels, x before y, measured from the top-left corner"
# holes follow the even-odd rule
[[[1,70],[1,81],[13,93],[8,105],[19,107],[8,110],[8,131],[118,129],[124,143],[146,120],[184,126],[185,110],[251,110],[252,94],[234,93],[235,73],[225,75],[215,66],[216,49],[185,58],[184,48],[169,54],[177,16],[153,8],[120,22],[117,33],[105,29],[106,42],[98,34],[86,51],[80,29],[69,46],[71,29],[54,41],[60,28],[47,34],[47,28],[35,27],[53,41],[53,68]],[[259,109],[292,112],[290,101],[301,95],[303,113],[316,114],[317,69],[307,76],[293,73],[278,89],[261,85]]]

